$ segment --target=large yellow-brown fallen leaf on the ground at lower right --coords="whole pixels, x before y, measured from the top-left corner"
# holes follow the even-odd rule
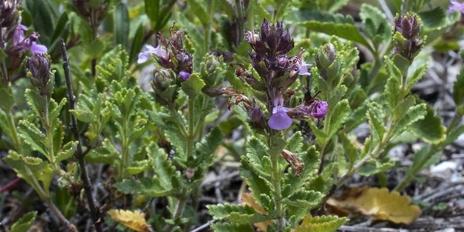
[[[409,224],[419,218],[421,209],[412,205],[411,198],[398,192],[389,193],[387,188],[352,188],[340,197],[330,198],[327,204],[337,210],[358,212],[371,216],[374,220],[388,220],[393,223]]]

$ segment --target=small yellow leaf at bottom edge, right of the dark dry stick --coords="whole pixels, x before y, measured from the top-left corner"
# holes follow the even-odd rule
[[[108,215],[121,223],[122,225],[129,227],[134,231],[139,232],[153,232],[150,229],[150,226],[146,224],[145,221],[145,214],[140,213],[138,211],[130,211],[130,210],[117,210],[117,209],[110,209],[108,210]]]

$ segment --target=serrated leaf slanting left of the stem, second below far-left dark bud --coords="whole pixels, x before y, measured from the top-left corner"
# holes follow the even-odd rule
[[[48,155],[45,146],[47,144],[47,139],[45,134],[37,129],[36,125],[21,120],[18,123],[18,132],[24,141],[31,145],[33,150],[38,151],[45,156]]]

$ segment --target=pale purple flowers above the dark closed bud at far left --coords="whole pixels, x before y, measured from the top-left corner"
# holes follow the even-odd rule
[[[32,53],[46,53],[47,47],[45,45],[37,44],[36,40],[39,37],[38,33],[32,33],[28,37],[24,36],[24,31],[28,30],[28,27],[21,24],[19,21],[18,27],[13,33],[13,46],[16,46],[19,50],[28,50],[30,49]]]

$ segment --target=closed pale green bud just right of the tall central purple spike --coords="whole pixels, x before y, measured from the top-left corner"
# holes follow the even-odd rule
[[[328,43],[322,46],[321,51],[316,55],[316,65],[322,78],[337,77],[340,72],[340,60],[337,59],[337,51],[333,44]]]

